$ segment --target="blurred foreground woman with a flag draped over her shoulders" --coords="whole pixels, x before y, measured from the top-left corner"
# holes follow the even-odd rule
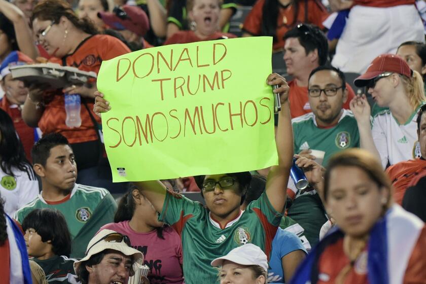
[[[323,197],[337,228],[299,266],[291,283],[425,283],[424,223],[392,201],[392,185],[371,153],[333,156]]]

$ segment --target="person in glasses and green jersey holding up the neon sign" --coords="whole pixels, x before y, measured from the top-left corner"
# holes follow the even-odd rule
[[[187,284],[215,283],[217,270],[209,261],[227,254],[245,243],[258,245],[267,256],[286,203],[286,188],[293,159],[293,134],[288,101],[289,86],[278,74],[267,78],[268,85],[278,85],[279,112],[276,146],[278,165],[269,172],[266,191],[242,211],[251,175],[249,172],[198,176],[206,207],[173,193],[159,181],[136,182],[134,185],[160,213],[159,219],[170,224],[182,237],[184,275]],[[97,93],[95,113],[111,109],[109,102]],[[208,149],[206,149],[208,151]]]

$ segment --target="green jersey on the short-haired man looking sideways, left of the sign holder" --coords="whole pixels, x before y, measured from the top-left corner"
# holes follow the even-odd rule
[[[67,198],[63,201],[47,202],[42,194],[39,194],[16,211],[14,218],[22,224],[33,209],[58,209],[65,217],[73,240],[71,257],[82,258],[87,244],[99,228],[114,221],[117,203],[108,190],[79,184],[74,186]]]

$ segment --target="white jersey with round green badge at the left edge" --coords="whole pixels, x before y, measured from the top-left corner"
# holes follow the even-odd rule
[[[5,201],[5,212],[14,216],[15,211],[33,200],[39,194],[39,182],[32,170],[28,173],[12,168],[15,176],[6,174],[0,168],[0,195]]]

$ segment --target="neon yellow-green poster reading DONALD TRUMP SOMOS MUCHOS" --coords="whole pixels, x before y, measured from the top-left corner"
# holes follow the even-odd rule
[[[256,170],[278,162],[272,38],[170,45],[103,61],[98,89],[114,182]]]

